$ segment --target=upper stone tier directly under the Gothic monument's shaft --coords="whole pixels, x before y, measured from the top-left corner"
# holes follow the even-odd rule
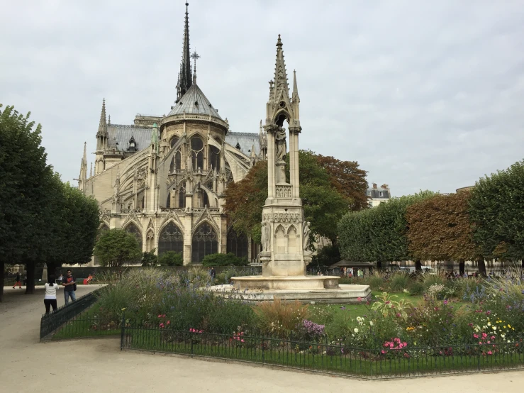
[[[265,289],[334,289],[339,290],[338,276],[245,276],[231,277],[233,288],[243,291]]]

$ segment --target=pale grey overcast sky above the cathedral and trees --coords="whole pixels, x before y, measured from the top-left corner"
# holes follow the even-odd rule
[[[6,1],[0,103],[32,112],[62,179],[111,123],[167,114],[184,0]],[[199,87],[258,132],[277,35],[297,72],[300,148],[356,160],[394,196],[454,192],[524,157],[523,1],[189,0]],[[94,155],[88,155],[89,162]]]

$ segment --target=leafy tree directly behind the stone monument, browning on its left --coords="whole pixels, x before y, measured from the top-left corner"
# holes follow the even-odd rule
[[[352,200],[335,188],[328,170],[311,151],[299,151],[299,182],[304,216],[311,222],[311,233],[336,243],[336,223],[350,208]],[[257,242],[260,242],[262,206],[266,199],[266,161],[257,162],[245,179],[230,184],[225,190],[225,211],[235,230],[252,236]]]

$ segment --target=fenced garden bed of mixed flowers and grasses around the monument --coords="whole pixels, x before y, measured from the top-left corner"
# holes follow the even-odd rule
[[[120,334],[124,349],[359,377],[524,365],[519,270],[486,279],[375,272],[360,281],[371,285],[370,301],[255,304],[208,291],[203,268],[130,270],[107,277],[94,305],[54,338]]]

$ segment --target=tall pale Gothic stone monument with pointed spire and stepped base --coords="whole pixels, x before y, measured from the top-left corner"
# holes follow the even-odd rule
[[[300,198],[299,134],[302,128],[299,103],[296,72],[291,98],[289,96],[279,35],[277,64],[274,81],[269,82],[264,125],[267,133],[267,199],[262,209],[262,276],[233,277],[233,287],[250,292],[274,290],[277,291],[274,294],[284,299],[330,301],[336,298],[345,302],[353,297],[365,298],[369,296],[368,286],[344,286],[355,287],[352,289],[357,295],[353,296],[355,293],[348,292],[350,288],[342,291],[338,284],[339,277],[306,275],[306,266],[312,257],[311,223],[304,219]],[[286,133],[285,123],[289,133]],[[289,173],[286,173],[286,155],[289,155]],[[261,296],[259,298],[262,300]]]

